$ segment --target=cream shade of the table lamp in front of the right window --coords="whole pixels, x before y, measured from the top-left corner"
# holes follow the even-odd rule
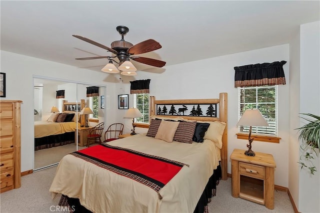
[[[268,127],[269,124],[265,121],[258,109],[247,109],[236,124],[237,126],[255,126]]]

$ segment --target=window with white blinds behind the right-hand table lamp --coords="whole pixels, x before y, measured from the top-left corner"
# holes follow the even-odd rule
[[[269,136],[277,135],[277,86],[257,86],[238,88],[238,117],[246,109],[258,109],[268,127],[252,127],[252,133]],[[249,126],[239,126],[239,133],[248,133]]]

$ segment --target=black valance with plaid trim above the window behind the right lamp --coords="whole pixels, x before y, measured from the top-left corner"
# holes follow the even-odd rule
[[[234,87],[285,84],[283,64],[286,61],[234,67]]]

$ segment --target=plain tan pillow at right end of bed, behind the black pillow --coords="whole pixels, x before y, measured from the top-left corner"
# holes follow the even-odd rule
[[[204,134],[204,139],[209,139],[215,143],[217,148],[222,148],[222,135],[225,123],[220,121],[207,122],[210,124],[208,130]]]

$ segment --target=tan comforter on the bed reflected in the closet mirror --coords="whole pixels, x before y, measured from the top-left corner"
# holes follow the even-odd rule
[[[74,132],[76,122],[34,122],[34,138],[42,138],[49,135],[59,135],[66,132]]]

